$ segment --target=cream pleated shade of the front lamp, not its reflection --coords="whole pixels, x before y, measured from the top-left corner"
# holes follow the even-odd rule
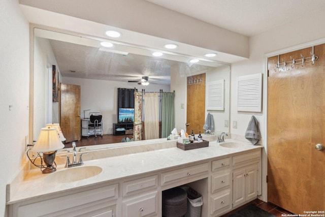
[[[31,148],[35,152],[49,152],[63,148],[56,128],[42,128],[36,144]]]

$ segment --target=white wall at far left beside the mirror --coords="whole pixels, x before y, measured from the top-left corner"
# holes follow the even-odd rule
[[[29,26],[18,0],[0,0],[0,28],[0,216],[5,216],[6,184],[20,169],[28,135]]]

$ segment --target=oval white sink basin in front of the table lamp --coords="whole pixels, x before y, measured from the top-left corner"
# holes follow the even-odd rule
[[[98,166],[78,166],[71,167],[60,171],[55,171],[45,178],[47,182],[67,183],[91,178],[103,171]]]

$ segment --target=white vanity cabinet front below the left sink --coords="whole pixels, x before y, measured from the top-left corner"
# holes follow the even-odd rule
[[[93,188],[93,187],[92,187]],[[87,188],[86,188],[87,189]],[[82,190],[82,192],[30,199],[10,206],[10,216],[116,216],[118,184]]]

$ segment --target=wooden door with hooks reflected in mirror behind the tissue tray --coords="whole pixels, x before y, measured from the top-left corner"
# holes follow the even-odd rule
[[[187,112],[186,132],[191,134],[204,133],[203,125],[205,122],[205,73],[201,75],[194,75],[192,78],[202,78],[199,84],[187,85]],[[188,78],[187,78],[188,79]],[[187,125],[186,124],[186,125]]]

